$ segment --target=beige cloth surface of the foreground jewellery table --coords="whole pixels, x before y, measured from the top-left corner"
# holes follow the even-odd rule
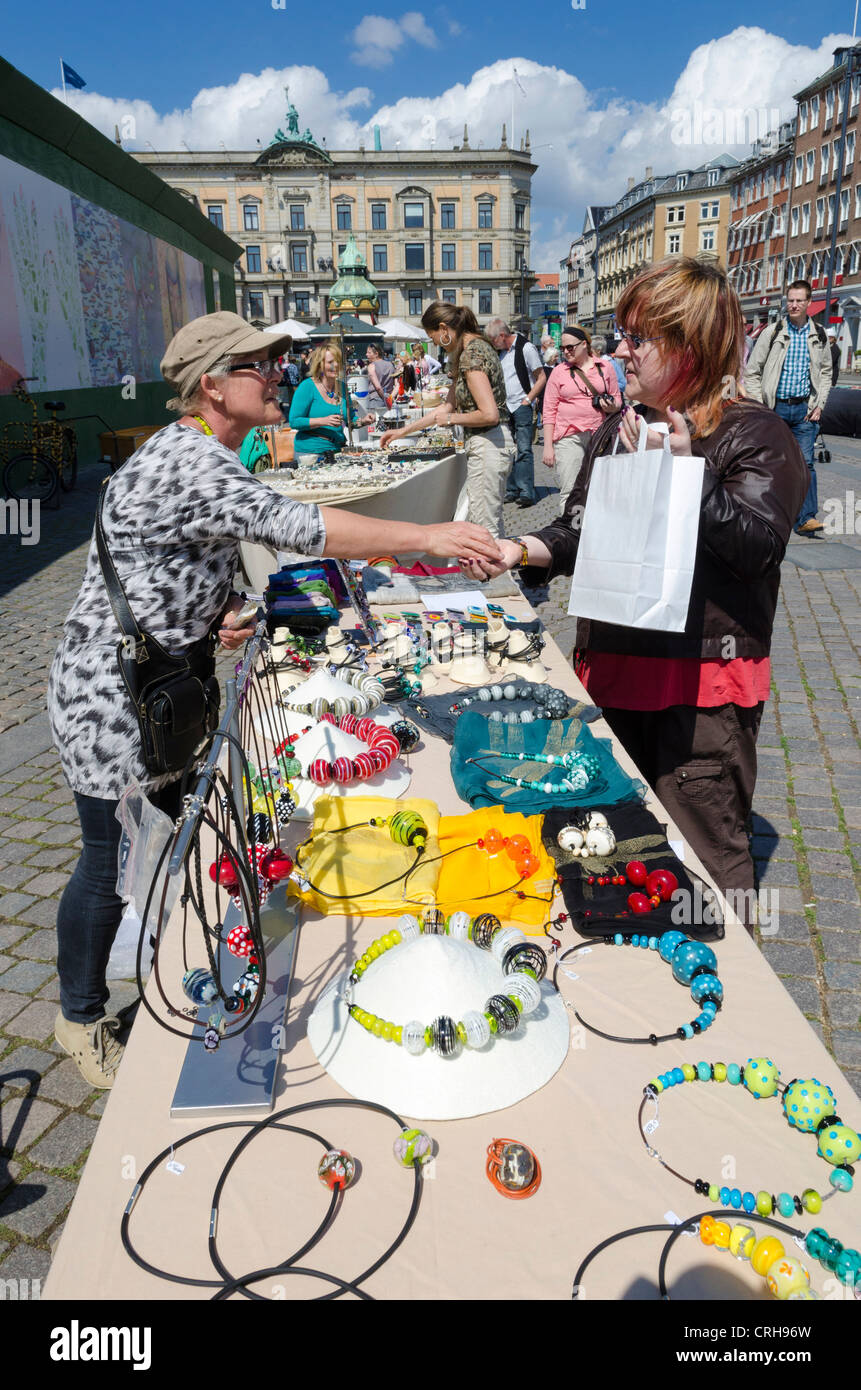
[[[531,616],[526,600],[505,606],[517,617]],[[544,662],[554,684],[584,696],[549,638]],[[593,731],[609,735],[604,724],[593,726]],[[618,745],[615,751],[622,766],[636,771],[625,751]],[[409,795],[430,796],[444,813],[463,810],[451,781],[446,745],[426,733],[423,746],[408,760],[413,773]],[[669,837],[680,840],[652,796],[648,803],[668,823]],[[305,834],[303,827],[295,838]],[[701,869],[689,847],[684,860]],[[345,1097],[310,1049],[307,1019],[323,988],[391,924],[394,919],[305,912],[275,1109]],[[178,949],[179,933],[171,930],[168,935]],[[565,944],[576,940],[568,926]],[[662,1222],[666,1212],[689,1216],[708,1207],[707,1200],[648,1156],[637,1131],[644,1084],[672,1066],[771,1056],[784,1081],[798,1076],[828,1081],[843,1120],[858,1129],[861,1106],[851,1087],[737,922],[727,920],[726,938],[715,949],[726,999],[705,1037],[657,1048],[626,1047],[573,1027],[562,1069],[519,1105],[473,1119],[427,1123],[438,1154],[423,1177],[417,1220],[395,1257],[367,1280],[367,1293],[391,1300],[569,1298],[580,1259],[598,1241],[625,1227]],[[609,1033],[669,1031],[693,1017],[689,991],[651,952],[601,947],[573,973],[580,979],[561,976],[565,995],[574,998],[576,990],[583,1015]],[[211,1297],[211,1289],[167,1283],[146,1273],[120,1243],[122,1211],[146,1163],[202,1123],[170,1118],[184,1054],[185,1044],[140,1011],[43,1297]],[[406,1118],[421,1125],[421,1116]],[[360,1159],[360,1182],[345,1194],[341,1213],[309,1257],[313,1268],[351,1279],[395,1237],[409,1208],[413,1179],[392,1159],[395,1129],[389,1120],[369,1112],[323,1109],[295,1123],[320,1131]],[[136,1247],[150,1262],[185,1276],[214,1277],[207,1258],[211,1194],[241,1133],[227,1130],[195,1141],[177,1154],[185,1165],[182,1173],[161,1165],[153,1176],[131,1222]],[[542,1183],[527,1201],[505,1201],[485,1177],[487,1145],[499,1136],[524,1141],[540,1158]],[[743,1087],[675,1088],[662,1097],[661,1129],[652,1143],[682,1172],[730,1187],[765,1187],[769,1193],[830,1190],[829,1169],[816,1156],[815,1138],[787,1127],[778,1099],[757,1102]],[[243,1154],[224,1190],[218,1218],[218,1247],[236,1275],[277,1264],[314,1230],[328,1202],[316,1176],[319,1156],[307,1140],[274,1130]],[[730,1212],[729,1219],[743,1216]],[[844,1245],[860,1247],[858,1190],[836,1195],[821,1216],[805,1213],[797,1220],[804,1229],[819,1223]],[[657,1297],[661,1244],[659,1237],[637,1237],[612,1247],[587,1272],[581,1297]],[[676,1243],[670,1280],[676,1297],[769,1301],[764,1280],[750,1265],[722,1258],[693,1238]],[[839,1286],[835,1291],[835,1280],[829,1294],[828,1276],[815,1264],[812,1283],[821,1293],[825,1284],[826,1297],[847,1294]],[[275,1276],[264,1280],[259,1291],[268,1298],[305,1300],[330,1287],[300,1276]],[[772,1307],[778,1314],[784,1305]]]

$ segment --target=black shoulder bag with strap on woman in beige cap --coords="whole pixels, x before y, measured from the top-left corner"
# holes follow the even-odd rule
[[[96,512],[96,549],[107,596],[122,632],[117,660],[138,714],[146,770],[163,777],[182,771],[198,745],[218,723],[216,638],[209,632],[184,656],[171,656],[154,637],[138,627],[104,539],[102,509],[106,486],[107,482],[102,486]]]

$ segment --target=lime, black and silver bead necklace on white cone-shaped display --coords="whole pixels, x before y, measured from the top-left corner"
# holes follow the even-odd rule
[[[502,966],[502,972],[510,977],[505,992],[491,994],[483,1012],[467,1009],[459,1020],[444,1013],[428,1024],[416,1019],[403,1024],[391,1023],[353,1004],[352,987],[359,984],[369,966],[392,947],[403,941],[417,941],[423,933],[451,935],[455,941],[472,941],[481,949],[490,951]],[[428,908],[421,922],[410,913],[401,917],[392,931],[373,941],[364,955],[353,962],[346,1006],[351,1017],[363,1029],[385,1042],[402,1047],[410,1056],[420,1056],[431,1047],[440,1056],[453,1056],[462,1047],[483,1048],[492,1037],[513,1033],[520,1023],[520,1015],[526,1016],[538,1008],[541,1002],[538,981],[545,973],[547,955],[534,941],[527,941],[519,927],[504,927],[491,912],[483,912],[474,919],[467,912],[452,912],[446,917],[438,908]]]

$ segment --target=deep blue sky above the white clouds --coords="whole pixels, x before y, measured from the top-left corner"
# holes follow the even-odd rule
[[[296,0],[287,0],[284,10],[274,10],[270,0],[209,0],[206,6],[188,0],[124,6],[40,0],[15,8],[3,56],[40,86],[51,88],[63,54],[90,89],[143,97],[157,110],[189,104],[202,86],[288,63],[313,63],[325,71],[331,86],[370,86],[378,103],[389,103],[406,95],[433,96],[442,85],[467,81],[478,67],[517,54],[561,64],[593,90],[650,101],[669,95],[697,44],[739,25],[759,25],[790,43],[815,47],[823,33],[847,26],[851,32],[853,22],[851,0],[791,7],[768,0],[753,10],[743,0],[586,0],[586,8],[576,11],[570,0],[542,0],[536,7],[523,0],[474,0],[467,10],[449,0],[416,8],[438,36],[440,49],[405,38],[385,68],[353,60],[359,51],[353,29],[367,14],[403,14],[409,0],[398,7],[366,0],[346,11],[352,13],[346,21],[339,7],[324,10]],[[323,14],[331,18],[321,22]],[[460,26],[459,33],[449,33],[452,22]]]

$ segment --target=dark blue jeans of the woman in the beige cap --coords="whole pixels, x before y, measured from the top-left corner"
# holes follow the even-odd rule
[[[149,799],[172,820],[179,815],[181,783],[171,783]],[[83,849],[57,909],[57,970],[60,1008],[70,1023],[104,1017],[110,994],[107,962],[124,912],[117,897],[117,853],[122,827],[117,801],[75,792]]]

